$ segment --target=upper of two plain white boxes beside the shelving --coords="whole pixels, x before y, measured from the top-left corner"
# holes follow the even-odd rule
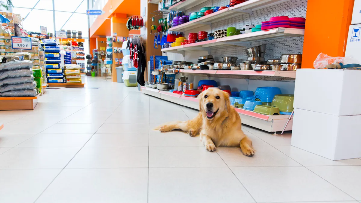
[[[361,70],[297,69],[293,107],[336,116],[361,115],[360,90]]]

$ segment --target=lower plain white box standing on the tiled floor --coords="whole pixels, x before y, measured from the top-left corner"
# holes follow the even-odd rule
[[[295,108],[291,144],[331,160],[361,157],[361,115],[334,116]]]

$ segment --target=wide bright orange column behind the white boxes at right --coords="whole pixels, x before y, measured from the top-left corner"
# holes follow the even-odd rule
[[[309,0],[303,43],[302,68],[313,68],[319,53],[345,56],[355,0]]]

